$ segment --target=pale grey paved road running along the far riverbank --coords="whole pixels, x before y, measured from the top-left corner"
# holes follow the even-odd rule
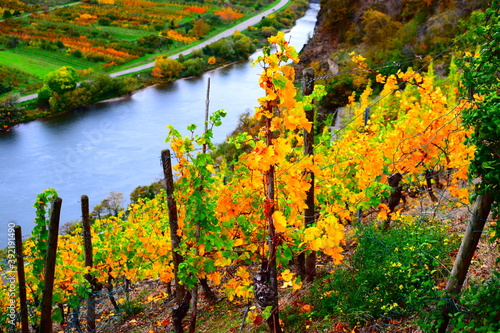
[[[179,57],[180,54],[189,54],[191,53],[193,50],[196,50],[196,49],[201,49],[209,44],[212,44],[213,42],[216,42],[218,41],[219,39],[222,39],[222,38],[225,38],[225,37],[229,37],[231,35],[234,34],[234,32],[236,30],[238,31],[243,31],[245,29],[247,29],[249,26],[252,26],[252,25],[256,25],[257,23],[260,22],[260,20],[262,19],[262,17],[264,16],[268,16],[269,14],[271,14],[272,12],[284,7],[287,3],[288,3],[289,0],[281,0],[276,6],[272,7],[271,9],[269,10],[266,10],[262,13],[260,13],[259,15],[256,15],[224,32],[221,32],[220,34],[210,38],[210,39],[207,39],[206,41],[203,41],[202,43],[196,45],[196,46],[193,46],[187,50],[184,50],[182,52],[179,52],[179,53],[176,53],[176,54],[173,54],[170,56],[171,59],[177,59]],[[122,75],[126,75],[126,74],[131,74],[131,73],[136,73],[136,72],[140,72],[142,70],[145,70],[145,69],[148,69],[148,68],[152,68],[154,67],[155,63],[154,62],[150,62],[149,64],[145,64],[145,65],[141,65],[141,66],[137,66],[137,67],[134,67],[134,68],[130,68],[130,69],[127,69],[127,70],[124,70],[124,71],[121,71],[121,72],[116,72],[116,73],[112,73],[110,74],[111,77],[117,77],[117,76],[122,76]],[[32,95],[28,95],[28,96],[23,96],[23,97],[20,97],[19,98],[19,102],[24,102],[24,101],[29,101],[29,100],[32,100],[32,99],[35,99],[37,98],[38,94],[32,94]]]

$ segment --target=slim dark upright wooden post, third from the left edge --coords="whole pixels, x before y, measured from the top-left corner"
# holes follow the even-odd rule
[[[82,225],[83,225],[83,249],[85,256],[85,266],[92,268],[93,255],[92,255],[92,237],[90,232],[90,218],[89,218],[89,198],[86,195],[81,197],[82,203]],[[91,292],[87,298],[87,327],[91,332],[95,332],[95,295],[96,281],[91,274],[85,274],[85,279],[89,282]]]

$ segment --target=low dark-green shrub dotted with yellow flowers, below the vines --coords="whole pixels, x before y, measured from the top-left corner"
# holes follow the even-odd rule
[[[389,325],[419,313],[435,302],[437,281],[447,276],[452,247],[446,237],[442,225],[423,220],[387,231],[360,226],[352,258],[312,288],[313,317]]]

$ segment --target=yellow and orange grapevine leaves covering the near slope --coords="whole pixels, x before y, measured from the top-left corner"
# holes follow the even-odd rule
[[[388,178],[394,174],[400,174],[408,187],[422,188],[426,175],[439,172],[444,175],[440,184],[450,196],[466,203],[469,193],[461,184],[474,154],[474,147],[463,142],[469,130],[460,120],[470,105],[458,98],[459,75],[452,65],[444,85],[436,82],[432,66],[426,74],[412,69],[379,74],[380,95],[374,98],[367,83],[359,99],[350,98],[346,123],[336,139],[328,131],[320,133],[314,155],[304,156],[302,133],[314,130],[305,110],[315,108],[324,87],[316,85],[311,95],[299,95],[289,64],[299,61],[296,51],[283,33],[269,38],[269,43],[275,51],[266,47],[255,62],[262,67],[258,83],[264,93],[254,118],[265,125],[257,133],[230,139],[237,147],[249,147],[232,165],[216,163],[210,154],[215,149],[213,130],[225,115],[222,110],[211,116],[203,134],[196,134],[194,125],[188,135],[169,126],[167,138],[177,159],[175,200],[181,239],[177,251],[184,258],[177,278],[188,288],[206,279],[230,301],[245,303],[253,301],[253,277],[263,270],[274,269],[276,274],[264,284],[300,289],[302,281],[290,268],[300,253],[317,252],[333,264],[341,263],[347,223],[366,222],[368,216],[373,223],[407,219],[386,204],[393,191]],[[352,59],[359,68],[367,68],[362,56],[352,54]],[[181,70],[176,60],[158,57],[152,75],[171,80]],[[309,172],[316,178],[317,213],[314,223],[305,226]],[[88,295],[87,273],[111,286],[122,277],[132,282],[172,281],[172,247],[164,236],[169,232],[167,216],[166,199],[160,194],[132,204],[119,216],[96,220],[95,265],[90,270],[84,267],[79,227],[62,236],[56,276],[59,302],[79,306],[79,298]],[[43,246],[37,245],[36,237],[25,244],[29,265],[35,265]],[[35,312],[40,274],[34,270],[28,277],[30,307]],[[5,297],[0,300],[5,302]],[[278,307],[272,307],[278,313]],[[264,313],[265,307],[253,309],[250,317],[257,322]]]

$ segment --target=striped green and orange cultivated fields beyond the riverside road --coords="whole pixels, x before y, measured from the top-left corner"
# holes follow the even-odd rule
[[[140,65],[196,43],[269,3],[92,0],[48,8],[47,3],[0,0],[0,94],[34,92],[47,73],[62,66],[114,72],[132,61]],[[14,72],[26,79],[16,79]]]

